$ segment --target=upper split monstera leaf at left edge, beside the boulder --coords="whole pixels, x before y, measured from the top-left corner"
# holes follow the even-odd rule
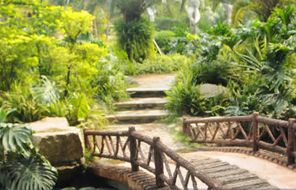
[[[0,123],[0,145],[8,152],[27,153],[27,144],[33,131],[26,125],[14,125],[10,123]]]

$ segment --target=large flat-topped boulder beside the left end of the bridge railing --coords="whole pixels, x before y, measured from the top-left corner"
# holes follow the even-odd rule
[[[81,131],[69,126],[66,118],[44,118],[28,125],[36,132],[31,141],[52,165],[80,163],[83,158]]]

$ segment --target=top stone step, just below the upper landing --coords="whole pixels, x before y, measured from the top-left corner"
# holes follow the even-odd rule
[[[170,87],[131,87],[126,89],[132,98],[154,98],[165,97],[165,91],[169,91]]]

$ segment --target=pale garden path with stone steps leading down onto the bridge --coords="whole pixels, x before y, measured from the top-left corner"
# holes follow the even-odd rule
[[[167,111],[164,111],[166,100],[163,98],[165,96],[163,91],[170,89],[174,77],[175,74],[148,74],[132,77],[139,82],[139,87],[127,90],[131,93],[132,99],[118,104],[118,108],[125,111],[118,112],[116,116],[109,116],[116,124],[109,126],[107,130],[120,131],[127,130],[129,126],[135,126],[136,131],[141,131],[144,135],[161,137],[161,141],[173,150],[186,149],[182,143],[172,139],[170,127],[175,127],[178,130],[178,126],[168,127],[165,124],[155,122],[155,120],[168,116]],[[129,111],[126,111],[126,109]],[[296,189],[295,170],[264,159],[233,152],[199,152],[191,150],[189,153],[179,154],[187,160],[203,157],[220,159],[247,169],[250,173],[267,180],[275,187]],[[121,162],[119,164],[129,165]]]

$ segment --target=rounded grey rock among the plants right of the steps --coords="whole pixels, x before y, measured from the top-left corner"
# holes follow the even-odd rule
[[[227,87],[214,84],[202,84],[200,85],[200,94],[203,98],[213,98],[217,95],[228,94],[229,90]]]

